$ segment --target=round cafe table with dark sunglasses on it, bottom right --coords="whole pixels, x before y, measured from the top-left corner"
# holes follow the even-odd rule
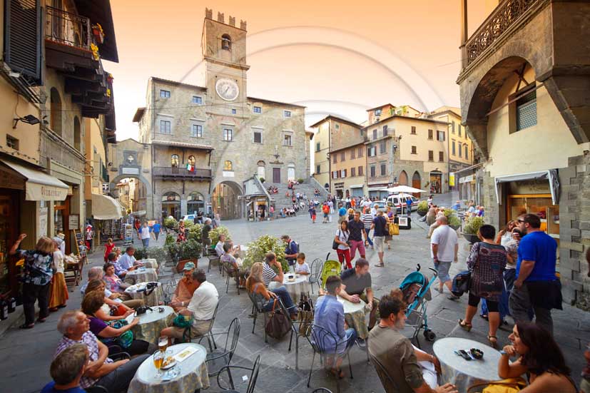
[[[469,352],[472,348],[481,349],[484,357],[480,360],[465,360],[454,353],[459,349]],[[500,379],[498,376],[500,352],[488,345],[459,337],[445,337],[434,342],[432,349],[440,361],[441,384],[447,382],[455,384],[459,392],[467,392],[467,388],[472,384]]]

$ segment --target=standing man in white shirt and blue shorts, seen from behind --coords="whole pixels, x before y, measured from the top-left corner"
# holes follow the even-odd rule
[[[457,252],[459,252],[459,240],[457,232],[449,227],[449,220],[442,215],[437,217],[439,227],[432,233],[430,238],[430,256],[434,260],[434,268],[438,272],[439,287],[434,288],[442,293],[444,285],[447,285],[449,292],[452,290],[452,281],[449,276],[451,262],[457,262]],[[449,296],[450,300],[457,300],[455,295]]]

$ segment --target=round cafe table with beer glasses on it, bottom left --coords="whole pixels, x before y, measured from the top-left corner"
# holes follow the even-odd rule
[[[128,393],[178,393],[178,392],[195,392],[197,389],[207,389],[209,387],[209,376],[205,357],[207,350],[203,345],[185,342],[168,347],[172,352],[171,356],[176,356],[184,349],[194,347],[197,351],[185,358],[181,362],[176,362],[174,367],[178,375],[172,379],[166,377],[166,370],[162,370],[162,377],[156,378],[156,367],[153,365],[153,357],[148,357],[141,366],[138,367],[135,377],[129,384]],[[168,355],[167,355],[168,356]],[[168,379],[168,380],[166,380]]]

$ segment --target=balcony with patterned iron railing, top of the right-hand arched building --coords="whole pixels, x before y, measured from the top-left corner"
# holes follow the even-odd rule
[[[494,44],[507,38],[527,17],[546,0],[503,0],[462,46],[463,69],[471,66],[485,53],[490,53]]]

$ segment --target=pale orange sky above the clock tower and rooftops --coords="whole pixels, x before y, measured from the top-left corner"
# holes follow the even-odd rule
[[[459,106],[461,0],[112,0],[119,63],[117,138],[137,138],[150,76],[203,84],[205,7],[248,21],[248,96],[307,106],[306,125],[327,113],[358,123],[382,103],[432,111]],[[469,31],[497,0],[469,0]]]

